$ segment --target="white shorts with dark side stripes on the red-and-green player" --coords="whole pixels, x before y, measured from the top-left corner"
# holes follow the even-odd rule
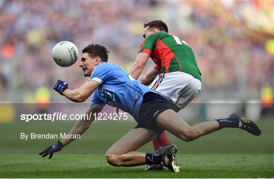
[[[201,90],[201,81],[185,72],[161,73],[149,88],[166,97],[176,112],[184,109]]]

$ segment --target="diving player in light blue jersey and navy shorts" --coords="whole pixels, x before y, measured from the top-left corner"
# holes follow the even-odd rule
[[[138,123],[136,127],[118,140],[106,154],[107,161],[113,166],[138,166],[145,164],[163,164],[169,170],[179,172],[174,151],[162,153],[136,152],[141,146],[154,140],[164,130],[168,130],[183,141],[193,141],[201,136],[224,127],[241,128],[255,136],[261,134],[260,128],[251,120],[237,114],[228,118],[201,122],[194,126],[188,125],[170,106],[169,101],[157,92],[133,79],[121,67],[108,62],[108,50],[98,44],[90,44],[82,51],[80,67],[84,76],[90,76],[80,88],[68,89],[65,81],[58,80],[55,91],[74,102],[84,102],[93,92],[94,96],[86,114],[87,119],[79,120],[69,135],[82,135],[94,121],[105,104],[118,107],[131,114]],[[97,116],[97,115],[96,115]],[[62,139],[40,153],[42,157],[62,150],[75,139]]]

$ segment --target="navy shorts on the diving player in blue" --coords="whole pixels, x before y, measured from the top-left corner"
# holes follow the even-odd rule
[[[157,93],[146,93],[139,109],[138,125],[134,128],[147,128],[155,131],[160,136],[164,129],[156,124],[155,118],[167,109],[172,109],[167,99]]]

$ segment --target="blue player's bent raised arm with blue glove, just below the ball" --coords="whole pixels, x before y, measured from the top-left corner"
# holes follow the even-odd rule
[[[67,82],[58,80],[53,88],[61,95],[64,95],[67,99],[73,102],[81,103],[86,101],[86,99],[88,99],[88,97],[95,91],[95,89],[99,85],[99,82],[95,80],[90,80],[85,82],[80,88],[72,90],[67,88]]]

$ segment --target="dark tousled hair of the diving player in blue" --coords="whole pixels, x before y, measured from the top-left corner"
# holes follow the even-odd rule
[[[100,57],[102,61],[108,62],[109,51],[106,47],[91,43],[82,50],[82,53],[88,53],[90,57]]]

